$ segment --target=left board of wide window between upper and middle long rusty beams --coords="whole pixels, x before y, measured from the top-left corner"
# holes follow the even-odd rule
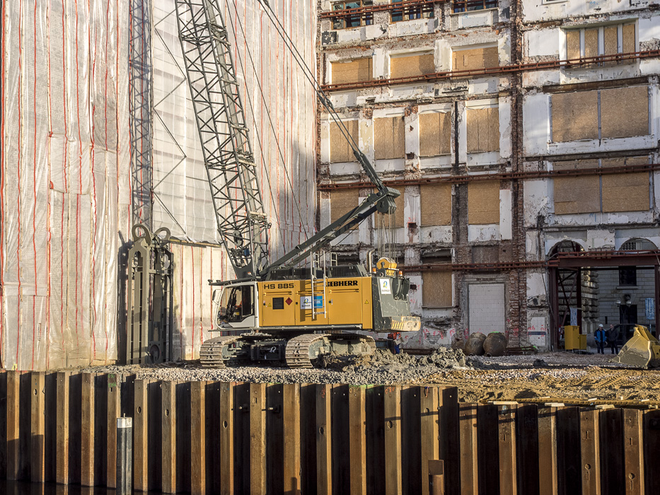
[[[598,91],[552,95],[552,141],[598,139]]]

